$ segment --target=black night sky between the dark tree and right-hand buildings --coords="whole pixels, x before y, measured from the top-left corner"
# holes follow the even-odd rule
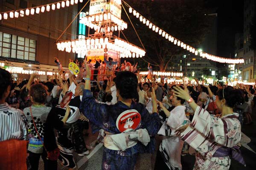
[[[207,0],[218,13],[217,55],[234,58],[235,34],[243,32],[244,0]]]

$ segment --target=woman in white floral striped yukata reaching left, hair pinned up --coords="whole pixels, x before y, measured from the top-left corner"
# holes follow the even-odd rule
[[[231,156],[245,166],[237,146],[241,140],[239,114],[233,112],[233,107],[244,101],[240,90],[218,90],[215,103],[221,112],[220,118],[199,107],[188,92],[180,87],[174,87],[174,92],[175,96],[185,99],[195,111],[191,124],[177,130],[178,134],[181,133],[181,139],[196,151],[193,170],[228,170]]]

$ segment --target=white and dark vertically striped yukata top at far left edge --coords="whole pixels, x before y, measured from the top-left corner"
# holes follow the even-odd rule
[[[0,141],[9,139],[26,140],[27,130],[24,115],[20,109],[0,104]]]

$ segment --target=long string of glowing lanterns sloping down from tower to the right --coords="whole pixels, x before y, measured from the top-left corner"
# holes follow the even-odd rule
[[[125,3],[127,6],[129,6],[127,3]],[[148,26],[149,29],[152,29],[152,31],[158,33],[159,35],[162,35],[163,38],[166,38],[166,40],[171,41],[177,46],[180,46],[180,48],[186,49],[189,52],[194,53],[195,55],[200,55],[202,58],[207,58],[208,60],[216,61],[219,63],[230,63],[230,64],[237,64],[237,63],[244,63],[244,59],[230,59],[230,58],[222,58],[215,55],[210,55],[206,52],[198,51],[198,49],[195,49],[192,46],[189,46],[186,43],[183,43],[182,41],[178,40],[177,38],[173,37],[172,35],[169,35],[167,32],[165,32],[163,29],[160,29],[158,26],[154,25],[154,23],[150,22],[148,19],[143,17],[140,13],[138,13],[135,9],[131,8],[129,6],[129,12],[132,13],[136,18],[140,20],[143,24]]]

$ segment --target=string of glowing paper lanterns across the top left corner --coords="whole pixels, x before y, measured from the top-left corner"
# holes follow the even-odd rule
[[[62,0],[58,1],[55,3],[49,3],[46,5],[42,6],[35,6],[31,8],[26,8],[26,9],[19,9],[15,11],[8,11],[8,12],[0,12],[0,20],[4,19],[7,20],[9,18],[17,18],[17,17],[24,17],[24,15],[29,16],[29,15],[34,15],[41,13],[44,13],[45,11],[49,12],[51,9],[54,11],[55,9],[60,9],[64,8],[65,6],[70,6],[77,4],[78,2],[82,3],[83,0]]]

